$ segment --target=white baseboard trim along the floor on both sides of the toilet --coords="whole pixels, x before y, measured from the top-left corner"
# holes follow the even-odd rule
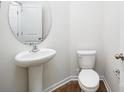
[[[50,87],[44,89],[44,92],[51,92],[59,87],[61,87],[62,85],[65,85],[66,83],[72,81],[72,80],[77,80],[78,79],[78,76],[69,76],[67,78],[65,78],[64,80],[61,80],[53,85],[51,85]],[[103,80],[106,88],[107,88],[107,91],[108,92],[111,92],[111,88],[109,87],[109,84],[107,83],[106,79],[104,76],[100,76],[100,80]]]

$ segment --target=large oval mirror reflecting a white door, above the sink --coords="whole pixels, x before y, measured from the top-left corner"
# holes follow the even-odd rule
[[[9,4],[9,24],[24,44],[39,44],[48,36],[52,17],[47,2],[13,1]]]

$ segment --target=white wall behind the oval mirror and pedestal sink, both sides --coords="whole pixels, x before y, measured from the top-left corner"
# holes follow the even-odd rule
[[[69,2],[49,2],[52,10],[52,29],[40,48],[52,48],[57,54],[44,65],[43,87],[70,76],[69,62]],[[8,2],[0,8],[0,91],[27,91],[27,69],[16,67],[14,56],[31,47],[21,44],[12,34],[8,24]]]

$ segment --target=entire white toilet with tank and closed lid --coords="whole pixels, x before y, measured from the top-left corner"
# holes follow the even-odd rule
[[[93,70],[96,50],[78,50],[77,58],[80,67],[78,83],[82,91],[95,92],[99,88],[99,75]]]

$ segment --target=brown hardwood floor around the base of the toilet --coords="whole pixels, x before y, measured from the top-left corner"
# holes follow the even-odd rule
[[[55,89],[53,92],[80,92],[78,81],[70,81],[67,84]],[[100,81],[100,86],[97,92],[107,92],[104,82]]]

